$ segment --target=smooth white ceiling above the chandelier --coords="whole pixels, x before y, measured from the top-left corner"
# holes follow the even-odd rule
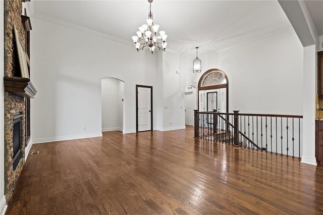
[[[35,15],[85,27],[126,43],[132,42],[131,36],[146,23],[149,12],[147,0],[32,3]],[[316,10],[315,3],[310,4]],[[277,1],[154,0],[151,12],[154,24],[168,34],[168,49],[181,53],[195,53],[196,46],[201,55],[221,51],[291,28]]]

